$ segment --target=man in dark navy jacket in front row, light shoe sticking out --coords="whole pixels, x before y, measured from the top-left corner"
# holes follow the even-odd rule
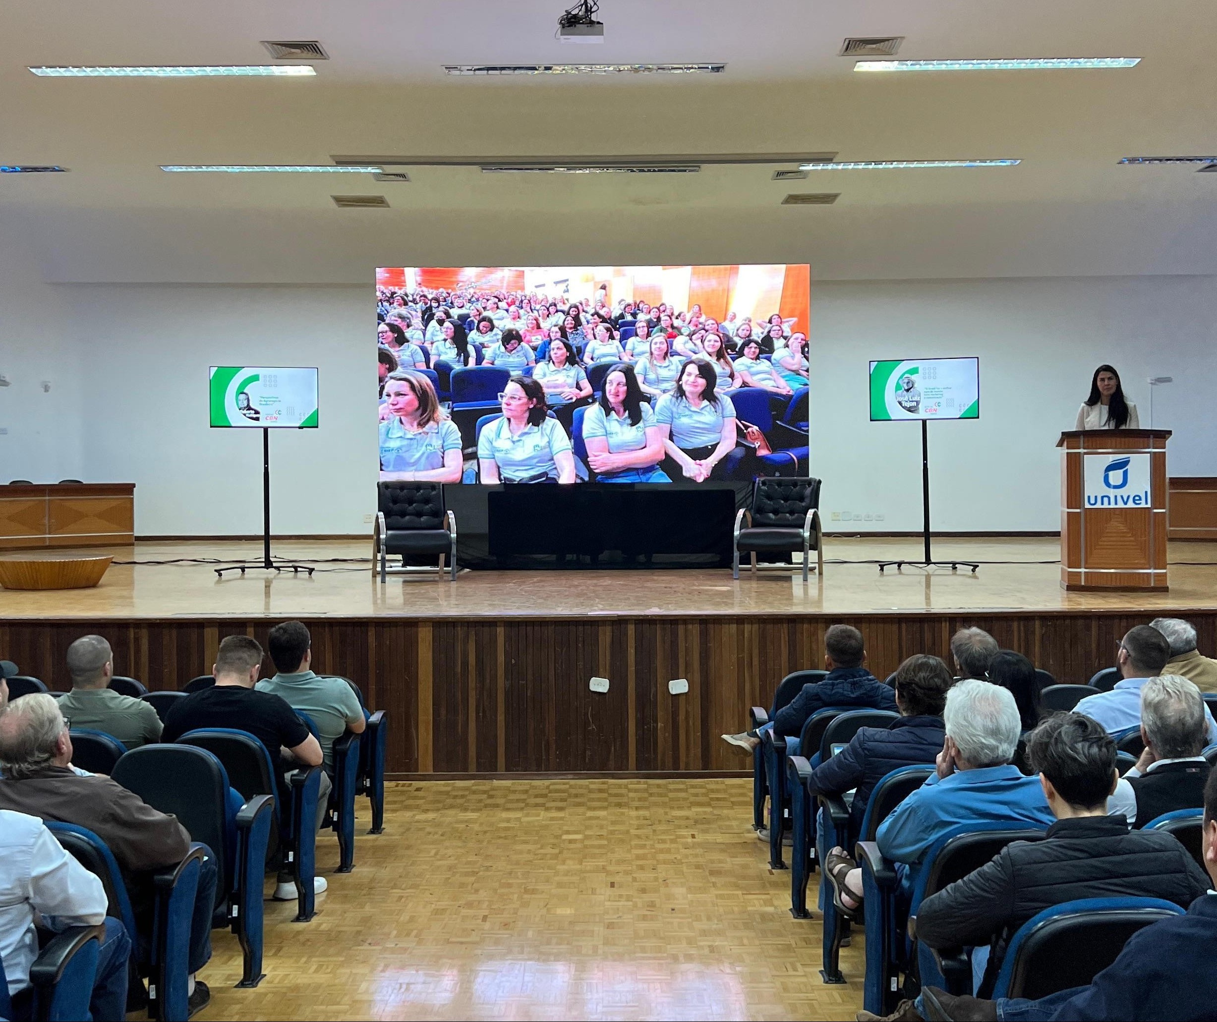
[[[772,728],[774,735],[786,739],[786,754],[798,756],[798,736],[803,725],[825,707],[894,712],[896,696],[891,687],[875,678],[865,664],[867,650],[862,633],[848,624],[834,624],[824,633],[824,667],[829,672],[828,675],[820,681],[803,685],[803,690],[779,709],[778,715],[761,730]],[[723,735],[723,741],[746,752],[752,752],[761,743],[761,739],[748,731]],[[818,762],[817,752],[812,758],[812,765],[818,765]]]

